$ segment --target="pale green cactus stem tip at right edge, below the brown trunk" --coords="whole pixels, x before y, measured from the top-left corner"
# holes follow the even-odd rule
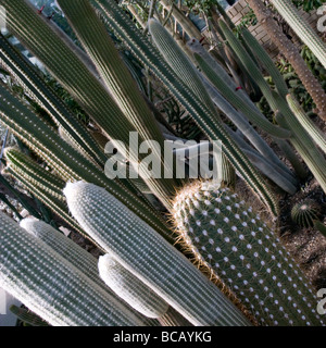
[[[325,134],[309,119],[302,107],[293,98],[292,95],[287,95],[287,101],[296,115],[297,120],[300,122],[301,126],[306,130],[306,133],[312,137],[312,139],[317,144],[317,146],[326,154],[326,137]]]

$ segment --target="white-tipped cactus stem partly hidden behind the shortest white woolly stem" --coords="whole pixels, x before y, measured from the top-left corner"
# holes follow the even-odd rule
[[[67,238],[63,233],[60,233],[58,229],[41,220],[25,217],[20,222],[20,225],[30,235],[43,241],[65,260],[71,262],[92,282],[109,293],[110,296],[113,296],[117,301],[121,301],[120,297],[116,296],[114,291],[111,291],[99,276],[98,259],[96,259],[90,252],[86,251],[75,241]],[[124,306],[128,307],[126,302],[124,302]],[[134,311],[131,307],[128,308],[131,312],[135,312],[137,316],[141,318],[141,315],[139,315],[137,311]],[[148,325],[153,325],[153,323],[148,321],[146,318],[142,318],[142,320]]]

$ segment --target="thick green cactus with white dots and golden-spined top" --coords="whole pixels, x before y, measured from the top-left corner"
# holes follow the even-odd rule
[[[229,286],[259,323],[325,323],[310,282],[276,233],[230,189],[195,182],[175,198],[173,217],[196,263]]]

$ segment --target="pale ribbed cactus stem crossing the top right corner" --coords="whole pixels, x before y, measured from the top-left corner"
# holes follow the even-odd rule
[[[271,2],[326,69],[326,45],[293,3],[289,0],[272,0]]]

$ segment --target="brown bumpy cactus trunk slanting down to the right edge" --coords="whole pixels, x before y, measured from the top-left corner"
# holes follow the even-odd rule
[[[260,0],[248,0],[249,5],[254,11],[258,21],[266,33],[271,34],[272,41],[293,66],[296,73],[304,85],[305,89],[314,100],[318,115],[326,120],[326,95],[319,82],[306,66],[294,44],[283,33],[281,28],[274,21],[269,9]]]

